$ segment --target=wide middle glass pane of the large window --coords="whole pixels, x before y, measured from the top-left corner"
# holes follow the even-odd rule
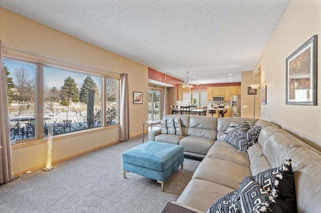
[[[54,135],[101,126],[102,77],[44,67],[44,136],[54,115]]]

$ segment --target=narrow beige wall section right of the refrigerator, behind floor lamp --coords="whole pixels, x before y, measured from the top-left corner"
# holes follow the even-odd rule
[[[254,116],[254,95],[247,94],[247,87],[250,84],[260,84],[261,76],[253,76],[253,71],[241,72],[241,116]],[[247,108],[246,108],[247,106]],[[257,88],[255,95],[255,118],[261,118],[261,85]]]

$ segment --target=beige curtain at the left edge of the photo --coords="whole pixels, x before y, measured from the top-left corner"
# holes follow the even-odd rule
[[[0,148],[0,183],[4,183],[14,178],[14,171],[12,169],[8,98],[1,40],[0,63],[0,146],[2,146]]]

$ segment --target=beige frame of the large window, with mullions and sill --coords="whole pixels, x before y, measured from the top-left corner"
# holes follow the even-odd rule
[[[63,135],[69,135],[69,134],[83,134],[85,131],[97,131],[99,129],[106,129],[106,128],[113,128],[115,126],[119,126],[119,94],[120,94],[120,74],[116,74],[114,72],[110,72],[110,75],[108,74],[109,71],[107,70],[102,70],[102,69],[96,69],[94,67],[90,66],[84,66],[84,65],[79,65],[80,68],[77,69],[75,68],[74,63],[68,62],[68,61],[63,61],[61,60],[61,63],[59,63],[59,59],[55,58],[50,58],[47,57],[47,60],[43,60],[42,57],[45,57],[43,55],[40,56],[39,59],[36,59],[37,57],[33,56],[23,56],[19,55],[17,56],[16,54],[13,53],[8,53],[8,52],[3,52],[3,58],[6,60],[12,60],[12,61],[19,61],[22,63],[30,63],[34,64],[35,67],[35,137],[33,138],[27,138],[27,139],[22,139],[22,140],[16,140],[13,144],[20,144],[20,143],[25,143],[25,142],[31,142],[35,140],[40,140],[47,138],[47,136],[44,136],[44,69],[45,67],[49,68],[56,68],[64,71],[69,71],[69,72],[75,72],[75,73],[80,73],[80,74],[87,74],[90,76],[97,76],[101,77],[101,95],[100,95],[100,101],[101,101],[101,126],[93,127],[93,128],[87,128],[87,129],[81,129],[77,131],[72,131],[72,132],[66,132],[66,133],[61,133],[61,134],[56,134],[54,137],[60,137]],[[6,54],[7,53],[7,54]],[[70,63],[70,64],[69,64]],[[107,124],[106,122],[106,81],[107,78],[109,79],[114,79],[117,80],[117,103],[116,103],[116,117],[117,121],[114,124]]]

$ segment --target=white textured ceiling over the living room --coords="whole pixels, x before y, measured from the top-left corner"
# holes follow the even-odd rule
[[[191,83],[205,84],[240,82],[241,71],[253,70],[288,2],[0,0],[0,6],[178,79],[189,71]]]

